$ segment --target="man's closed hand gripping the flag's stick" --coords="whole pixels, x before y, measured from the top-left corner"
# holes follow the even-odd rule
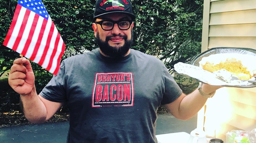
[[[35,90],[35,76],[28,59],[18,58],[14,60],[8,82],[11,88],[20,95],[27,95]]]

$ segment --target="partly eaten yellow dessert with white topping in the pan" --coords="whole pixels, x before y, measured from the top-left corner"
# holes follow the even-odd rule
[[[256,74],[255,61],[256,56],[252,55],[221,53],[203,57],[199,65],[210,72],[224,69],[241,80],[248,80]]]

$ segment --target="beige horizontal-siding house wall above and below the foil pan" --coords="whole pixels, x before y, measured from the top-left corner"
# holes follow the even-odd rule
[[[204,0],[203,12],[202,52],[214,47],[256,49],[256,0]],[[256,87],[218,89],[206,103],[203,127],[224,142],[231,130],[256,128]]]

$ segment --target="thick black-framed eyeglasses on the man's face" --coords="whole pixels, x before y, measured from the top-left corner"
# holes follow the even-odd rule
[[[132,21],[131,20],[102,20],[95,22],[96,24],[100,24],[101,28],[106,31],[110,31],[114,28],[114,25],[117,24],[120,30],[127,30],[131,27]]]

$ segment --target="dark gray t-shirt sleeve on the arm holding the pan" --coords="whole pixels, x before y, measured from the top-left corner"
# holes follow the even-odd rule
[[[163,79],[165,81],[165,88],[161,104],[168,104],[174,102],[181,96],[182,90],[169,73],[168,69],[163,66]]]

